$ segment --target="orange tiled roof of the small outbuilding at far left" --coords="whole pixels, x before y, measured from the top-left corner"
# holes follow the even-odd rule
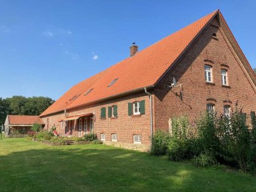
[[[33,125],[44,124],[39,116],[32,115],[8,115],[10,125]]]

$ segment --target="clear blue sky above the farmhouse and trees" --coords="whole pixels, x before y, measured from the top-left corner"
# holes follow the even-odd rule
[[[0,0],[0,97],[58,99],[218,8],[255,68],[256,1]]]

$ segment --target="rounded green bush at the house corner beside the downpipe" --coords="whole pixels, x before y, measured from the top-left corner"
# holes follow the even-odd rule
[[[167,152],[170,134],[166,131],[157,130],[152,138],[151,154],[164,156]]]

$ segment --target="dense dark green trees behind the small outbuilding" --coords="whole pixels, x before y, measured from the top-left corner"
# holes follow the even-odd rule
[[[4,124],[6,115],[40,115],[53,102],[49,97],[0,97],[0,125]]]

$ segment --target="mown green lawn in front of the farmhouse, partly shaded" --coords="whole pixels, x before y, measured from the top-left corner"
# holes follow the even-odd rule
[[[0,140],[0,191],[256,191],[256,177],[106,145]]]

